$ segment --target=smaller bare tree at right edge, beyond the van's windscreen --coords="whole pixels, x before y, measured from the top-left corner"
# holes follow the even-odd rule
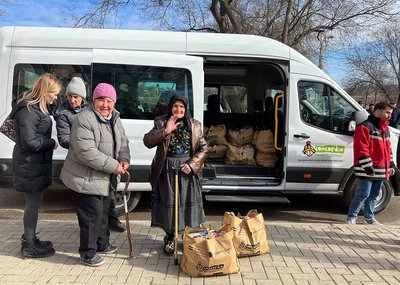
[[[400,101],[400,29],[382,29],[373,41],[354,49],[348,56],[347,87],[372,85],[386,100]]]

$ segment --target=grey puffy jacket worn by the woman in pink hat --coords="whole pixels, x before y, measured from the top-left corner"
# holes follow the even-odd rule
[[[112,174],[123,160],[130,162],[130,152],[119,112],[114,109],[112,119],[107,121],[90,106],[72,124],[60,178],[76,192],[108,196],[110,188],[116,187],[111,185]]]

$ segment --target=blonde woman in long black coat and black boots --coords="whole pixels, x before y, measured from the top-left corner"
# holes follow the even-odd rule
[[[41,75],[33,89],[26,92],[13,107],[16,141],[13,151],[13,181],[17,191],[24,192],[24,234],[21,237],[23,257],[47,257],[54,254],[53,243],[36,236],[39,207],[44,190],[52,184],[52,158],[57,142],[51,138],[52,120],[48,105],[57,99],[61,85],[51,74]]]

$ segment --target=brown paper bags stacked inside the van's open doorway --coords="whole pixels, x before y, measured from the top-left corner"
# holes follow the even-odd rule
[[[204,133],[210,150],[209,161],[224,161],[230,165],[276,165],[271,130],[254,132],[251,126],[247,126],[227,132],[225,125],[216,125],[204,128]]]

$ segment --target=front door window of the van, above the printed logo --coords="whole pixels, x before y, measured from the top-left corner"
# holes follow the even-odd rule
[[[334,133],[347,134],[351,115],[356,109],[332,87],[310,81],[298,83],[301,120]]]

